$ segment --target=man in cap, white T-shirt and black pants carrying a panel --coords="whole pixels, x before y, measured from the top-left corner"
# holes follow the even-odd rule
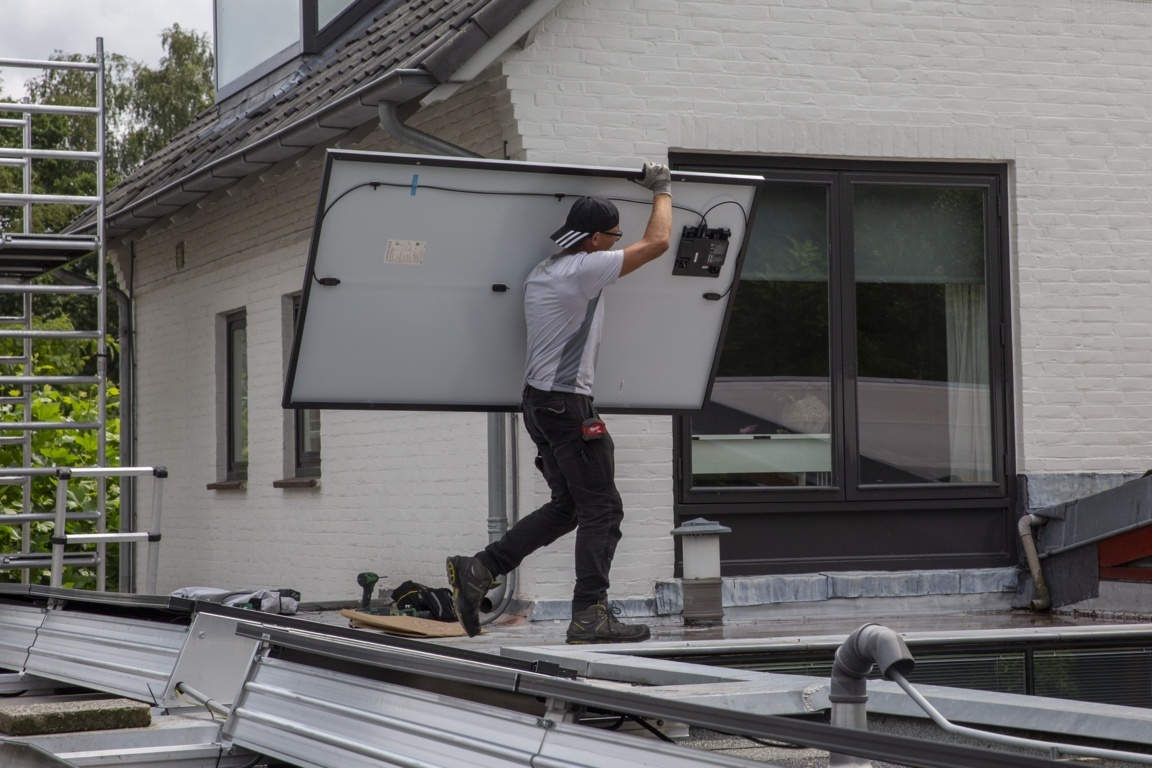
[[[448,557],[456,616],[469,637],[479,634],[479,604],[497,578],[530,554],[576,531],[576,585],[567,641],[635,642],[651,633],[624,624],[608,606],[608,571],[620,541],[623,504],[615,485],[614,444],[592,404],[592,377],[600,345],[600,292],[660,257],[672,241],[672,176],[646,162],[639,184],[652,190],[644,235],[616,248],[623,233],[616,206],[578,198],[552,239],[562,250],[524,281],[528,364],[524,427],[536,443],[536,465],[551,500],[475,556]]]

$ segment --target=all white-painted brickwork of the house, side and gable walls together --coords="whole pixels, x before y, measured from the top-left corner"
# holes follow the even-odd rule
[[[1085,0],[566,0],[485,83],[410,124],[487,157],[638,166],[670,150],[1008,162],[1018,465],[1152,465],[1152,5]],[[373,134],[358,149],[400,149]],[[442,580],[486,541],[485,419],[324,413],[317,491],[279,491],[281,299],[300,289],[319,166],[137,244],[142,462],[172,467],[164,588]],[[174,245],[185,242],[177,273]],[[643,273],[636,277],[643,279]],[[215,318],[247,307],[252,463],[217,479]],[[668,418],[611,417],[624,496],[615,596],[672,573]],[[521,433],[521,510],[546,488]],[[571,538],[521,575],[571,588]]]

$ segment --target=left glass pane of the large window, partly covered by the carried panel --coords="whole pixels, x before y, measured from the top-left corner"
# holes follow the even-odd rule
[[[832,485],[828,191],[761,195],[712,397],[692,417],[692,482]]]

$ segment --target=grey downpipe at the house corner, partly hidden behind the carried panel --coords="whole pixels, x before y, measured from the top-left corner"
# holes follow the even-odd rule
[[[380,128],[397,142],[423,150],[430,154],[456,158],[483,158],[483,154],[456,146],[452,142],[425,134],[411,126],[406,126],[400,119],[400,105],[395,101],[381,101],[378,106]],[[513,453],[515,456],[515,451]],[[515,476],[513,476],[515,478]],[[488,413],[488,541],[497,541],[508,530],[508,416],[506,413]],[[513,502],[515,503],[515,501]],[[493,595],[495,608],[482,624],[490,624],[499,618],[511,603],[516,591],[516,572],[505,575],[503,583],[497,587]]]

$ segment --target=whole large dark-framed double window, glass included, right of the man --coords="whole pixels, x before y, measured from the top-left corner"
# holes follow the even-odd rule
[[[681,501],[1005,496],[1002,168],[740,170],[765,182]]]

